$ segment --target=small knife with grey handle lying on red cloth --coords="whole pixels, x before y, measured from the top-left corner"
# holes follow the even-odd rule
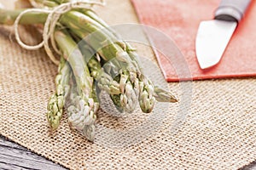
[[[214,20],[201,21],[195,53],[201,69],[218,64],[251,0],[222,0]]]

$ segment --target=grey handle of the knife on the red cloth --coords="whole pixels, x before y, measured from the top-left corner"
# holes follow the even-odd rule
[[[215,20],[239,22],[251,0],[222,0],[215,11]]]

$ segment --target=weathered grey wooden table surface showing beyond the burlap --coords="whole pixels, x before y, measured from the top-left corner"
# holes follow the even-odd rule
[[[65,167],[38,156],[0,135],[0,169],[64,170]],[[242,167],[241,170],[256,170],[256,161],[246,167]]]

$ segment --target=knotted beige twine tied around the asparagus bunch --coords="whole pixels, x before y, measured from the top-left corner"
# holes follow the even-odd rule
[[[48,8],[40,6],[38,3],[36,3],[34,0],[30,0],[30,3],[35,8],[29,8],[21,12],[18,17],[15,20],[15,38],[16,41],[19,43],[21,48],[25,48],[27,50],[37,50],[39,48],[44,47],[46,54],[49,56],[49,59],[55,65],[59,65],[60,61],[59,59],[55,58],[55,55],[53,54],[52,50],[49,48],[49,40],[52,45],[52,48],[54,48],[56,54],[61,54],[60,50],[57,48],[55,43],[55,37],[54,37],[54,31],[55,26],[58,22],[58,20],[61,18],[61,14],[65,14],[68,11],[70,11],[73,8],[92,8],[93,5],[100,5],[104,6],[106,3],[104,0],[101,0],[100,2],[96,1],[90,1],[90,0],[75,0],[69,3],[62,3],[54,8]],[[44,23],[44,29],[43,29],[43,41],[38,43],[37,45],[27,45],[26,43],[22,42],[20,40],[20,33],[18,31],[20,19],[24,14],[27,13],[33,13],[33,12],[40,12],[40,13],[46,13],[48,14],[48,17]]]

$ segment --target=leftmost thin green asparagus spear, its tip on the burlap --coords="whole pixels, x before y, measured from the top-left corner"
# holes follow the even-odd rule
[[[61,57],[61,63],[58,68],[58,75],[55,78],[56,90],[53,94],[47,106],[47,119],[49,126],[55,130],[61,121],[63,114],[63,107],[69,92],[69,79],[71,75],[71,69],[65,59]]]

